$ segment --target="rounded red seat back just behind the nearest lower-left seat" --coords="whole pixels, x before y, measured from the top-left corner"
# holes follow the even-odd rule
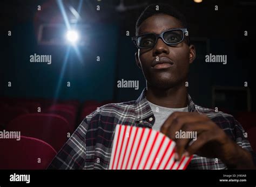
[[[68,140],[72,133],[66,119],[56,114],[30,113],[10,121],[8,131],[21,131],[24,136],[37,138],[49,143],[58,150]]]

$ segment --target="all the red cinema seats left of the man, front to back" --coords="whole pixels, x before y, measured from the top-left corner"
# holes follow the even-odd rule
[[[19,141],[0,140],[0,169],[45,169],[85,116],[107,103],[0,99],[0,130],[21,132]]]

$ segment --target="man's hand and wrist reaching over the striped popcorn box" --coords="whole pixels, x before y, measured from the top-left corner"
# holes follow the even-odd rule
[[[176,139],[179,132],[197,132],[197,140],[192,144],[191,137]],[[197,154],[219,158],[229,168],[255,168],[252,156],[242,149],[205,114],[197,112],[173,112],[161,126],[161,133],[176,141],[176,159]],[[190,145],[189,145],[190,144]]]

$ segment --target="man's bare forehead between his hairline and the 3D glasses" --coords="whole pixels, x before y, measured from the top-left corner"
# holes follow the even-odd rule
[[[183,28],[180,21],[170,15],[154,15],[143,21],[139,26],[139,34],[156,33],[160,34],[174,28]]]

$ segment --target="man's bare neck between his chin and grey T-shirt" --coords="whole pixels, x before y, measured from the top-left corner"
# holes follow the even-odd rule
[[[188,104],[185,84],[169,89],[159,89],[147,85],[146,98],[153,104],[169,108],[182,108]]]

